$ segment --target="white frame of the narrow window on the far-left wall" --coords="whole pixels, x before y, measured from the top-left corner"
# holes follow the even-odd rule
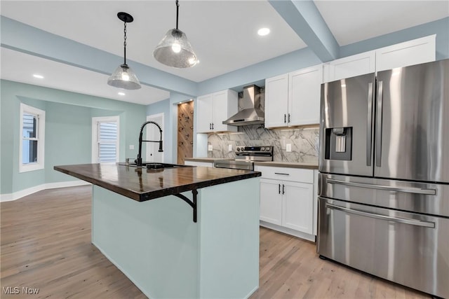
[[[29,140],[37,141],[37,162],[23,163],[23,115],[32,114],[37,116],[36,137]],[[45,168],[45,111],[27,104],[20,103],[20,127],[19,127],[19,172],[32,172]]]

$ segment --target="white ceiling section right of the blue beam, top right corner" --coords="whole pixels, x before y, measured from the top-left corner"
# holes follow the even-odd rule
[[[314,0],[340,46],[449,16],[448,0]]]

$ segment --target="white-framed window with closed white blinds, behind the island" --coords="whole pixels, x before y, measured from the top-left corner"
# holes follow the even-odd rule
[[[119,162],[119,116],[92,118],[92,162]]]

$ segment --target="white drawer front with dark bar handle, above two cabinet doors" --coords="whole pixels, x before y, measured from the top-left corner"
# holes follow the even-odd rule
[[[312,169],[256,165],[254,170],[257,172],[262,172],[262,178],[264,179],[314,183],[314,171]]]

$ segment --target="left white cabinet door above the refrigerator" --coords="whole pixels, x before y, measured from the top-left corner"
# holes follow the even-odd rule
[[[323,82],[374,73],[375,67],[375,50],[333,60],[324,64]]]

